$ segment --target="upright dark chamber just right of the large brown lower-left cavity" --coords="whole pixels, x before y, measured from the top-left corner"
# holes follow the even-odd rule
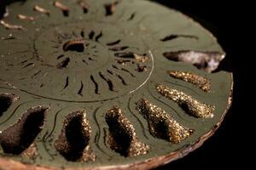
[[[59,139],[55,142],[55,148],[67,161],[78,161],[83,156],[84,148],[89,144],[90,132],[83,124],[84,116],[80,113],[72,113],[67,116]]]

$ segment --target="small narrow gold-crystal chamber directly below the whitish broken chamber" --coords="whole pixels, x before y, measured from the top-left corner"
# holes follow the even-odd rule
[[[198,88],[201,88],[205,92],[209,92],[211,89],[211,82],[206,77],[201,77],[199,75],[195,75],[192,72],[186,71],[167,71],[167,73],[174,78],[183,80],[185,82],[190,82],[195,84]]]

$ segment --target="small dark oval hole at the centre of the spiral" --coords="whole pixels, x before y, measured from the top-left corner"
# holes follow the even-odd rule
[[[84,52],[84,41],[82,41],[82,40],[68,41],[68,42],[64,43],[63,50],[64,51],[76,51],[76,52],[82,53],[82,52]]]

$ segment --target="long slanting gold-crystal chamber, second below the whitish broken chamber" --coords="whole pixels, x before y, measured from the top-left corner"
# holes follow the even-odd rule
[[[157,85],[156,89],[166,98],[177,102],[178,105],[180,105],[185,111],[188,111],[192,116],[198,118],[212,118],[214,116],[214,105],[201,103],[200,101],[192,98],[192,96],[184,94],[177,89],[168,88],[165,85]]]

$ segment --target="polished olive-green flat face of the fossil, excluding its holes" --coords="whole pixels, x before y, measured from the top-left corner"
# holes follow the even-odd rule
[[[64,17],[61,10],[52,5],[52,1],[28,0],[22,5],[13,3],[9,5],[9,16],[3,20],[10,24],[24,26],[27,31],[8,30],[0,26],[0,37],[8,37],[10,33],[15,37],[10,40],[0,39],[0,94],[14,93],[20,96],[20,100],[10,105],[9,110],[0,117],[0,131],[17,122],[20,116],[31,107],[38,105],[50,107],[45,127],[35,140],[39,156],[34,160],[15,156],[16,160],[56,167],[61,165],[67,167],[108,166],[144,161],[179,150],[187,144],[194,144],[217,124],[228,105],[232,84],[230,73],[210,74],[197,70],[193,65],[168,60],[162,55],[167,51],[188,49],[223,53],[218,42],[208,31],[177,11],[147,1],[119,1],[116,13],[108,17],[105,16],[104,4],[113,1],[88,0],[86,2],[90,8],[87,14],[83,13],[77,1],[61,2],[70,9],[68,17]],[[47,8],[50,15],[35,12],[33,10],[35,4]],[[18,20],[17,14],[34,16],[35,21]],[[129,20],[132,14],[134,18]],[[92,30],[95,31],[95,37],[102,32],[102,37],[98,42],[95,39],[89,40],[88,34]],[[96,50],[88,48],[83,53],[79,53],[64,52],[62,45],[59,48],[53,48],[58,45],[58,34],[67,33],[67,39],[60,38],[63,44],[63,42],[76,38],[75,35],[79,37],[81,31],[84,31],[84,41],[92,46],[96,45]],[[172,41],[160,41],[172,34],[192,35],[198,39],[180,37]],[[130,47],[124,51],[150,56],[149,61],[143,64],[148,66],[147,71],[137,72],[137,61],[135,64],[126,65],[114,62],[114,52],[108,50],[109,47],[106,44],[118,39],[121,42],[116,46]],[[61,54],[65,57],[58,60],[57,57]],[[70,58],[67,68],[58,69],[55,65],[67,57]],[[27,62],[21,63],[26,59],[28,59]],[[83,59],[88,65],[83,62]],[[28,65],[30,63],[34,65]],[[113,69],[112,65],[131,71],[135,77],[131,77],[125,71]],[[40,73],[33,77],[39,70]],[[124,85],[118,77],[109,74],[107,70],[118,73],[128,85]],[[204,93],[187,82],[169,77],[166,74],[168,70],[191,71],[208,77],[212,82],[212,90],[209,94]],[[113,81],[113,91],[109,90],[108,83],[100,77],[99,72]],[[91,75],[98,84],[98,94],[95,93],[96,87],[90,79]],[[67,77],[69,77],[68,87],[65,88]],[[11,83],[13,88],[4,82]],[[82,95],[79,93],[81,82],[83,82]],[[158,83],[180,89],[195,99],[215,105],[215,116],[212,119],[197,119],[189,116],[177,104],[156,92],[154,86]],[[44,87],[40,88],[42,84]],[[148,131],[147,121],[136,110],[136,102],[141,98],[149,99],[154,105],[160,106],[172,114],[177,122],[195,129],[195,133],[180,144],[155,139]],[[108,129],[104,116],[113,105],[119,105],[124,115],[136,127],[138,138],[150,146],[148,154],[124,157],[109,150],[104,144],[104,129]],[[64,117],[73,111],[83,109],[87,112],[92,127],[90,146],[96,154],[96,161],[85,163],[66,161],[56,152],[54,141],[61,133]],[[95,141],[95,139],[99,140]],[[1,151],[0,154],[6,156]]]

